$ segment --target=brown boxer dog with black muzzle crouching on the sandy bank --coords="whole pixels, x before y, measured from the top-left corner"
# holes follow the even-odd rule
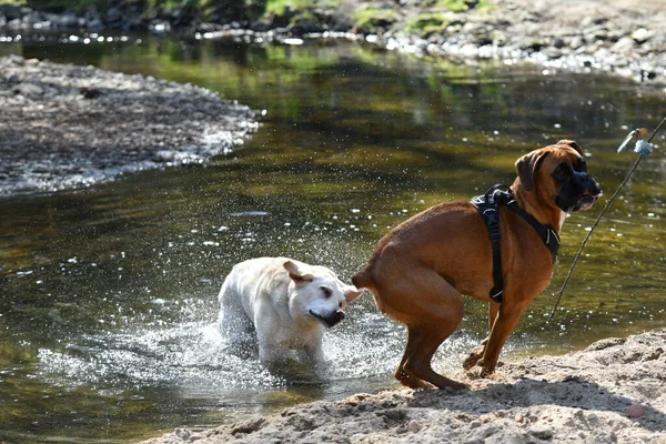
[[[569,140],[523,155],[511,191],[517,205],[559,233],[567,213],[589,210],[601,194],[581,147]],[[431,360],[463,319],[463,294],[490,303],[490,335],[465,370],[495,371],[500,352],[532,300],[547,285],[554,256],[524,218],[500,206],[502,303],[494,285],[488,228],[470,202],[446,202],[403,222],[380,240],[367,265],[352,278],[380,310],[407,326],[395,377],[410,387],[462,387],[434,372]],[[481,360],[481,361],[480,361]]]

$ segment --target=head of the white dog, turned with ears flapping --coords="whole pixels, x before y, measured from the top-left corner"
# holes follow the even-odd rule
[[[325,266],[309,265],[289,260],[284,262],[292,282],[289,291],[289,311],[302,322],[321,322],[331,327],[344,319],[345,305],[362,291],[346,285]]]

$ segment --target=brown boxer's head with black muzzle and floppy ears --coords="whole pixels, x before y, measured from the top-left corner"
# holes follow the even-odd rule
[[[583,149],[573,140],[561,140],[516,161],[523,189],[545,194],[562,211],[589,210],[602,190],[587,173]]]

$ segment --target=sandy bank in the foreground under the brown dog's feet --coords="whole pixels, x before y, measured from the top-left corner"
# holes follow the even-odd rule
[[[666,329],[506,364],[471,390],[389,390],[143,444],[666,443]]]

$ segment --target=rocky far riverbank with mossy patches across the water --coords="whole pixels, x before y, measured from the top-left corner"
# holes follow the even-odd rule
[[[0,30],[14,37],[46,29],[261,40],[343,37],[467,63],[528,61],[666,82],[666,0],[256,1],[235,9],[215,1],[171,9],[119,4],[59,13],[0,6]]]

